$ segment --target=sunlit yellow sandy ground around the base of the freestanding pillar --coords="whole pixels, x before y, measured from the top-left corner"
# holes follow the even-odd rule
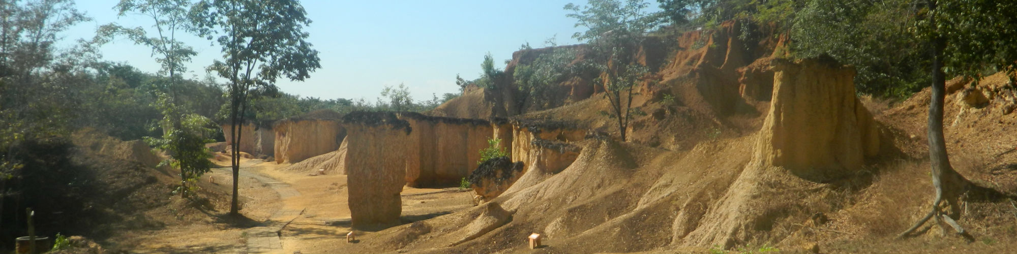
[[[223,166],[223,162],[217,164]],[[370,249],[359,248],[368,245],[346,243],[346,234],[353,229],[350,228],[345,175],[285,172],[279,169],[289,165],[257,160],[243,160],[241,165],[239,195],[243,202],[241,213],[249,218],[246,225],[222,218],[225,217],[222,214],[228,212],[227,203],[225,210],[203,219],[180,221],[159,231],[132,232],[115,237],[111,242],[117,243],[117,249],[129,253],[370,252]],[[233,184],[230,169],[216,169],[205,174],[202,181],[211,182],[210,178],[215,179],[212,188],[229,193]],[[409,224],[472,207],[472,192],[456,188],[406,187],[403,221]],[[229,196],[224,199],[228,201]],[[254,241],[265,237],[257,236],[253,229],[280,226],[278,241]],[[372,232],[356,231],[355,234],[368,236]],[[255,248],[259,244],[271,248]]]

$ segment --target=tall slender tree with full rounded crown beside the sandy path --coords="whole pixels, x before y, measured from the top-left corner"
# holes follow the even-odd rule
[[[320,67],[317,51],[305,40],[310,24],[296,0],[202,0],[191,8],[200,34],[222,46],[223,60],[210,69],[229,79],[230,128],[233,141],[233,199],[230,214],[237,215],[240,173],[240,125],[251,96],[272,92],[276,80],[304,80]]]

